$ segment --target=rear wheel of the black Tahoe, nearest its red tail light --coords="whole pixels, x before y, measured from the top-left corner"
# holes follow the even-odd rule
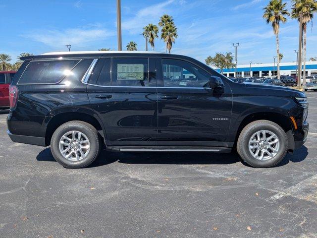
[[[75,131],[75,136],[73,131]],[[60,141],[63,135],[66,135],[68,139],[63,140],[61,143]],[[81,143],[78,141],[81,141]],[[67,145],[64,145],[64,143],[67,143]],[[72,147],[70,147],[70,143],[72,143]],[[60,146],[62,148],[60,148]],[[53,157],[59,164],[68,169],[79,169],[89,166],[98,158],[101,147],[102,143],[96,128],[84,121],[73,120],[60,125],[54,131],[51,139]],[[63,156],[61,150],[66,150],[67,148],[68,150],[64,153],[65,156]],[[81,154],[80,151],[82,151],[83,154]],[[71,155],[69,156],[69,154]],[[67,156],[69,156],[69,158],[66,158]]]

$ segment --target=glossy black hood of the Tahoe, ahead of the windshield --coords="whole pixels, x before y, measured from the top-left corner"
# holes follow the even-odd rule
[[[244,88],[243,91],[254,95],[306,97],[305,93],[303,93],[302,91],[271,84],[240,84],[240,86]]]

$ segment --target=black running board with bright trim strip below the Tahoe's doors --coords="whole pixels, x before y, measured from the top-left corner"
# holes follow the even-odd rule
[[[229,147],[210,146],[107,146],[106,150],[120,152],[231,152]]]

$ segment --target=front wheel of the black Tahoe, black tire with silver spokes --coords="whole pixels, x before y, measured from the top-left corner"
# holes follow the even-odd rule
[[[265,147],[260,147],[260,149],[267,148],[267,151],[269,151],[269,153],[271,153],[272,155],[275,153],[275,155],[272,156],[272,158],[269,158],[269,155],[266,154],[266,152],[262,152],[262,151],[259,151],[260,155],[264,153],[264,155],[266,156],[263,156],[262,160],[260,158],[255,158],[250,152],[250,150],[252,151],[252,149],[249,150],[249,142],[251,138],[255,138],[253,136],[255,136],[255,134],[261,130],[263,131],[265,130],[270,132],[271,134],[275,134],[274,141],[275,141],[275,138],[278,139],[278,142],[277,142],[278,146],[277,146],[277,143],[273,144],[273,146],[275,146],[275,148],[277,149],[277,152],[272,152],[270,147],[266,145],[266,143],[268,144],[269,142],[272,142],[273,139],[267,140],[266,143],[264,143],[265,140],[261,140],[260,143],[257,143],[255,141],[252,144],[252,146],[253,147],[263,146],[263,143],[264,143]],[[265,134],[269,135],[270,133],[268,132]],[[260,133],[260,135],[262,135],[262,137],[264,138],[263,133]],[[258,137],[256,136],[256,138]],[[248,165],[252,167],[256,167],[256,168],[268,168],[268,167],[273,167],[279,164],[285,157],[287,153],[287,148],[288,148],[288,140],[287,140],[285,131],[278,124],[269,120],[256,120],[246,125],[241,131],[238,138],[238,142],[237,142],[237,152],[242,158],[242,160],[246,162]],[[257,150],[258,150],[258,147],[256,149],[253,149],[254,151],[253,153],[256,153]],[[268,157],[268,158],[265,159],[265,157]]]

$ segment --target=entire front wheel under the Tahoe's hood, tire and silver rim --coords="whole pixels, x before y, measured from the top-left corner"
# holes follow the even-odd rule
[[[237,142],[240,157],[257,168],[277,165],[285,157],[287,148],[285,131],[269,120],[257,120],[246,125]]]

